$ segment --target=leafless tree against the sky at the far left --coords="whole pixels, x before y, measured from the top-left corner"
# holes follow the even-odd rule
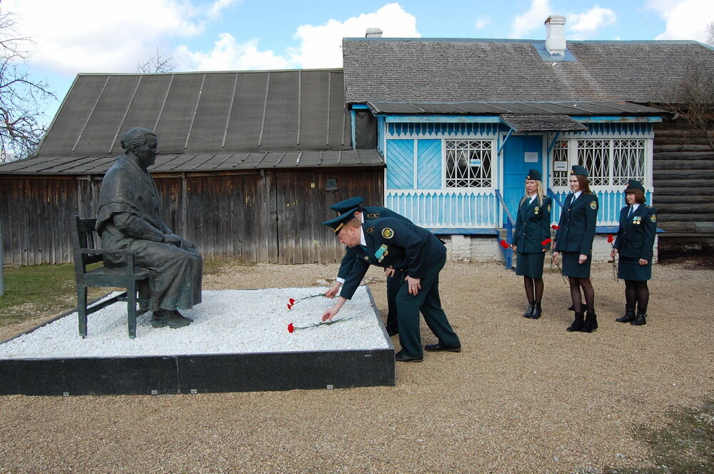
[[[26,64],[31,39],[16,31],[12,13],[0,13],[0,163],[30,156],[42,138],[48,84],[32,78]]]

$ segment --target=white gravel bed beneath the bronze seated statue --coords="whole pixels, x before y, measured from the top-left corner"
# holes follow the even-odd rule
[[[70,313],[30,333],[0,344],[0,359],[136,357],[228,353],[337,351],[391,348],[366,286],[356,291],[326,326],[288,332],[288,324],[319,323],[333,306],[328,298],[310,298],[288,310],[290,298],[323,293],[327,288],[271,288],[203,291],[203,303],[182,311],[193,318],[186,328],[152,328],[151,313],[137,319],[136,338],[126,326],[126,303],[89,315],[88,336],[77,330]]]

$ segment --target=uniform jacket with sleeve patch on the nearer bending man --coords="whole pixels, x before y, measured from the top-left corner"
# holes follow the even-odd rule
[[[357,258],[340,291],[352,298],[370,265],[396,268],[407,276],[422,278],[446,257],[446,247],[431,232],[403,218],[385,217],[363,224],[366,246],[356,246]]]

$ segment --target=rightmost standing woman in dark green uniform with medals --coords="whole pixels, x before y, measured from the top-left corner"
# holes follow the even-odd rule
[[[643,326],[647,323],[647,303],[652,278],[652,257],[657,232],[657,213],[645,204],[645,187],[630,179],[625,188],[625,203],[620,210],[620,228],[611,256],[620,254],[618,278],[625,281],[625,314],[618,323]],[[637,316],[635,316],[635,308]]]

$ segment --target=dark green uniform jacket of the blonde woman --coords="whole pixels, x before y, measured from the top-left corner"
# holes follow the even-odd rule
[[[530,202],[530,198],[521,199],[516,216],[516,233],[513,234],[513,245],[516,251],[522,253],[538,253],[548,245],[541,242],[550,238],[550,203],[548,197],[543,197],[543,203],[538,198]]]

